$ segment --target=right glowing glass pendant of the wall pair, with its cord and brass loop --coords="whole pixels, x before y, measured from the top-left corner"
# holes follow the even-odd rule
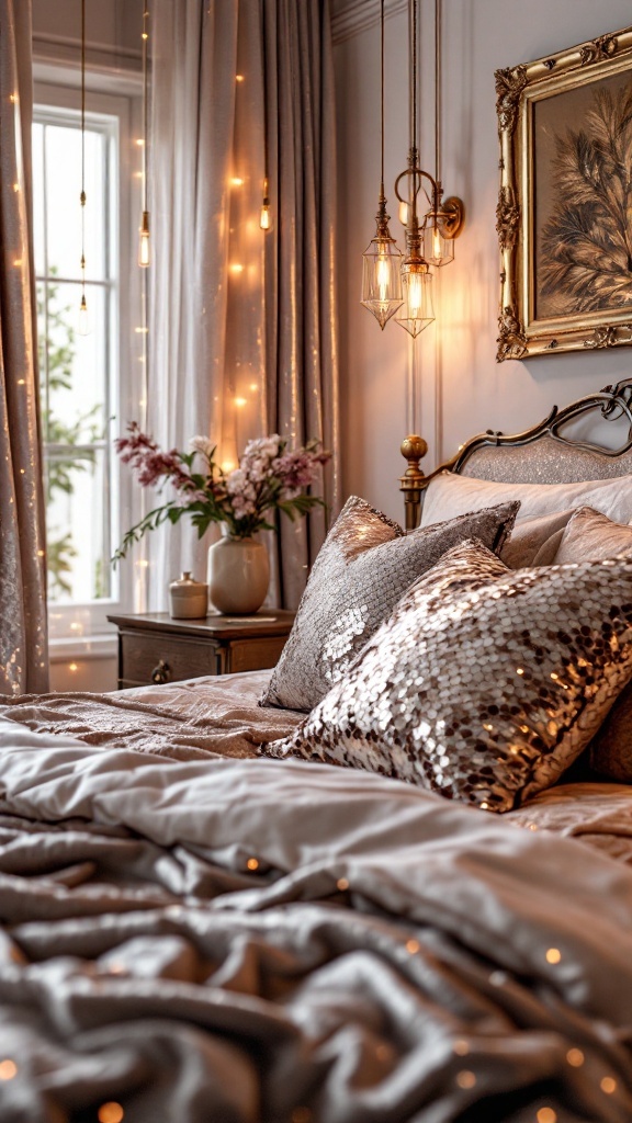
[[[432,273],[428,263],[422,254],[422,230],[417,217],[417,198],[422,189],[422,177],[426,175],[419,167],[419,153],[417,148],[417,0],[413,0],[413,29],[412,29],[412,104],[410,104],[410,147],[408,150],[408,166],[405,172],[397,177],[395,192],[400,202],[406,203],[406,257],[401,266],[401,286],[404,292],[404,303],[401,304],[395,320],[405,328],[413,338],[419,335],[434,320],[434,308],[432,300]],[[399,194],[399,184],[405,180],[408,186],[408,197],[403,199]]]

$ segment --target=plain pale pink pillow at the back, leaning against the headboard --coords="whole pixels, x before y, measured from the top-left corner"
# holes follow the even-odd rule
[[[431,480],[422,509],[422,527],[478,511],[495,503],[520,500],[518,520],[569,508],[592,506],[616,522],[632,520],[632,476],[572,484],[499,484],[442,472]]]

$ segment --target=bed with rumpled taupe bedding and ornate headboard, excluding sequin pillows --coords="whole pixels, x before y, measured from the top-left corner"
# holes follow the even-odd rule
[[[631,395],[632,380],[518,437],[475,438],[428,477],[409,440],[408,530],[426,491],[433,527],[459,477],[569,483],[583,510],[583,483],[602,481],[592,501],[610,503],[625,535],[629,483],[611,484],[632,471]],[[568,435],[587,417],[594,432],[595,416],[606,432],[623,424],[616,448]],[[468,502],[485,490],[464,487]],[[516,504],[503,504],[511,522]],[[577,581],[593,563],[554,562],[578,522],[558,513],[545,515],[539,569]],[[396,538],[408,558],[414,535]],[[532,524],[524,542],[534,548]],[[449,554],[462,584],[463,550]],[[626,565],[607,559],[599,574],[632,582]],[[436,568],[415,582],[426,601]],[[489,577],[524,603],[516,579]],[[358,674],[377,640],[363,646],[353,628]],[[632,1119],[632,787],[593,767],[610,759],[606,727],[632,673],[621,659],[589,749],[502,814],[481,810],[480,784],[461,798],[383,775],[381,758],[372,769],[299,758],[346,672],[314,706],[279,704],[279,668],[0,706],[2,1123]],[[291,691],[314,681],[290,686],[300,702]]]

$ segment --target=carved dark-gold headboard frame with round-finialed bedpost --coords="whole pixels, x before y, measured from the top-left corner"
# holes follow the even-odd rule
[[[565,436],[561,432],[561,429],[569,424],[569,422],[576,421],[579,417],[592,412],[595,413],[596,420],[603,418],[606,421],[615,421],[622,417],[628,419],[628,437],[623,445],[619,448],[611,449],[604,445],[574,439],[572,437]],[[572,459],[575,457],[577,465],[572,471],[578,480],[598,480],[607,476],[624,475],[625,473],[632,472],[632,459],[628,464],[622,463],[621,465],[617,465],[612,463],[616,462],[620,457],[624,457],[625,454],[632,450],[632,378],[624,378],[615,386],[605,386],[604,390],[601,390],[597,393],[588,394],[586,398],[580,398],[576,402],[571,402],[571,404],[565,407],[565,409],[560,410],[557,405],[553,405],[551,412],[547,418],[544,418],[543,421],[534,426],[532,429],[525,429],[524,432],[518,432],[514,436],[505,436],[502,432],[494,432],[491,429],[488,429],[487,432],[479,433],[477,437],[471,437],[464,445],[461,445],[459,451],[452,457],[452,459],[440,464],[427,476],[419,467],[419,460],[423,459],[427,453],[427,445],[425,440],[423,437],[417,436],[406,437],[401,442],[401,455],[408,462],[408,467],[399,481],[399,490],[404,493],[406,530],[414,530],[415,527],[418,526],[423,493],[431,480],[439,475],[440,472],[463,473],[466,465],[468,465],[472,457],[475,457],[475,454],[480,453],[481,449],[494,449],[494,460],[500,465],[503,463],[503,458],[507,457],[509,449],[525,447],[538,441],[556,441],[560,446],[560,451],[563,449],[567,463],[572,464]],[[584,454],[581,458],[579,458],[579,454]],[[589,456],[587,457],[586,454],[589,454]],[[489,460],[489,457],[487,457],[487,459]],[[524,482],[533,482],[534,478],[533,458],[530,459],[531,465],[525,466],[523,474]],[[592,474],[583,475],[581,471],[586,471],[587,459],[589,460],[589,469]],[[468,475],[470,473],[466,472],[463,474]],[[471,474],[476,476],[477,472],[472,472]],[[541,480],[540,473],[536,473],[536,477]],[[489,464],[486,467],[485,478],[496,478],[494,472],[489,471]],[[500,475],[499,478],[503,478],[503,476]],[[515,471],[514,478],[516,478]],[[550,478],[545,482],[554,483],[556,481]]]

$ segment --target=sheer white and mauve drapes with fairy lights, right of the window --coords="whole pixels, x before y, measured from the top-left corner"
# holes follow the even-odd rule
[[[147,423],[164,445],[312,437],[337,508],[334,101],[326,0],[154,0],[153,252]],[[272,229],[259,226],[269,179]],[[286,520],[283,520],[286,521]],[[323,517],[270,541],[271,596],[294,606]],[[148,604],[205,572],[188,520],[148,541]]]

